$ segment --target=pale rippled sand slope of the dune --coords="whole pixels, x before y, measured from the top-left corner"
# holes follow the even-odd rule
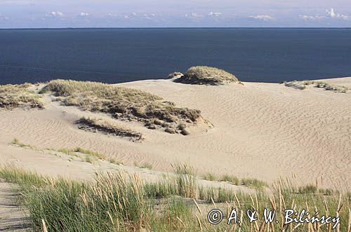
[[[327,82],[351,86],[351,78]],[[115,156],[125,165],[149,163],[154,170],[168,171],[171,163],[181,162],[191,163],[202,173],[269,182],[295,174],[302,183],[319,179],[321,184],[323,177],[324,186],[351,187],[347,186],[351,182],[350,93],[296,90],[274,83],[192,86],[157,80],[121,86],[146,90],[181,107],[200,109],[214,128],[183,136],[128,123],[145,135],[144,142],[130,142],[78,130],[74,121],[93,114],[62,107],[46,97],[43,111],[0,110],[0,162],[12,160],[44,173],[72,176],[87,168],[67,167],[49,158],[35,159],[37,152],[8,145],[18,137],[41,149],[81,146]]]

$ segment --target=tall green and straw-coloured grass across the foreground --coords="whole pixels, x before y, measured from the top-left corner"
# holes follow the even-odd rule
[[[103,172],[93,182],[82,183],[0,167],[1,178],[20,185],[34,231],[350,231],[350,195],[295,193],[291,183],[282,180],[270,187],[270,193],[204,186],[196,191],[191,172],[181,167],[175,180],[165,177],[152,183],[122,171]],[[224,216],[214,226],[207,220],[212,208],[221,209]],[[225,219],[233,208],[242,223],[228,225]],[[247,210],[263,215],[265,208],[275,210],[278,221],[266,223],[260,216],[252,223],[244,219]],[[340,223],[284,224],[286,209],[305,209],[311,215],[318,211],[320,216],[340,217]]]

